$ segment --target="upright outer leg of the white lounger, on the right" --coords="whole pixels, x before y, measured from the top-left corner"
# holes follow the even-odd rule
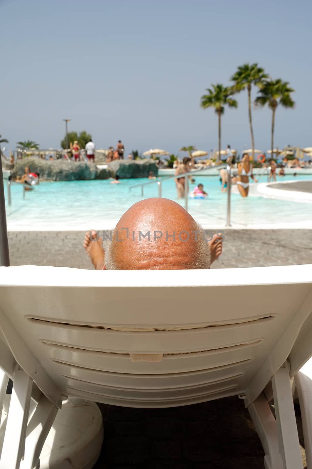
[[[279,452],[284,469],[302,469],[289,372],[280,368],[272,378],[274,408],[279,436]]]

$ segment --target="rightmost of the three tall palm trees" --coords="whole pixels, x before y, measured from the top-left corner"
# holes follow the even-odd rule
[[[294,107],[295,101],[290,96],[295,90],[290,88],[289,82],[283,82],[281,78],[277,80],[266,80],[263,88],[258,91],[255,104],[256,106],[265,106],[266,104],[272,109],[272,127],[271,127],[271,156],[273,158],[274,148],[274,124],[275,111],[277,106]]]

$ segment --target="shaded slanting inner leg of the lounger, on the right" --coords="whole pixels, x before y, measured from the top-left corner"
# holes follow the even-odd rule
[[[248,410],[265,452],[265,469],[283,469],[277,424],[265,395],[261,393]]]

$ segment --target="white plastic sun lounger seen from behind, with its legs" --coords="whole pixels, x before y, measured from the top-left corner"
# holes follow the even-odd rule
[[[181,330],[159,330],[168,328]],[[265,468],[302,468],[289,378],[312,356],[312,265],[136,272],[2,267],[0,329],[0,366],[14,379],[0,469],[38,467],[55,409],[67,396],[160,408],[233,395],[250,411]],[[305,396],[311,395],[307,376],[304,384],[296,377]],[[44,418],[37,417],[42,430],[36,427],[28,441],[34,400]],[[306,400],[302,410],[307,449]]]

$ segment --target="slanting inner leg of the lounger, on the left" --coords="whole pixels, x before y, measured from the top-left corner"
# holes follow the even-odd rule
[[[21,469],[39,467],[42,446],[55,420],[57,410],[55,405],[42,394],[27,425],[25,454]]]

